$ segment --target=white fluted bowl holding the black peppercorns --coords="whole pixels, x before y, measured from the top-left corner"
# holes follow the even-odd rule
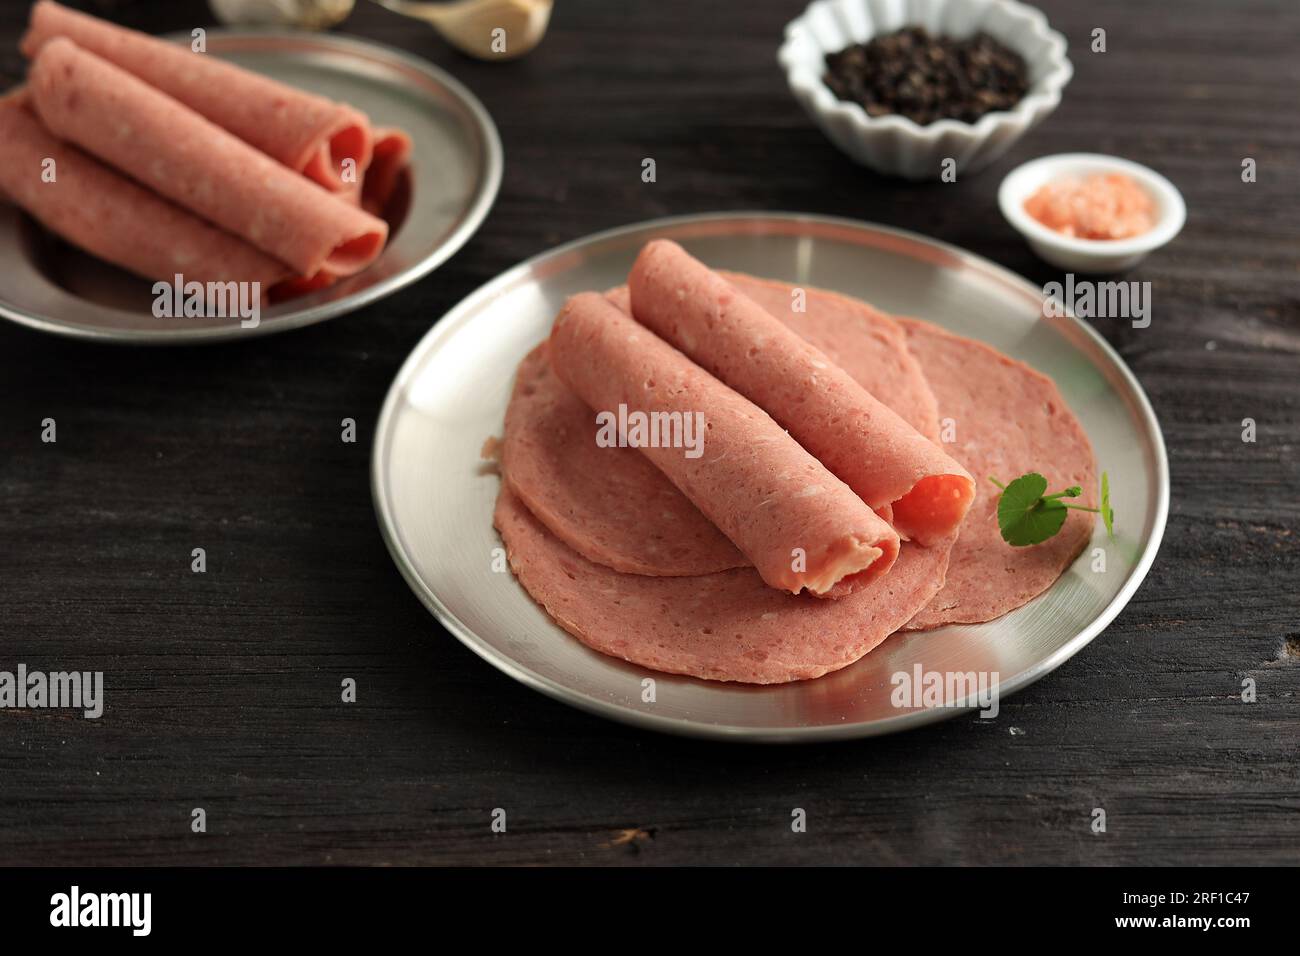
[[[822,79],[826,55],[905,26],[966,38],[987,33],[1024,57],[1030,90],[1011,111],[987,113],[975,124],[939,120],[920,126],[907,117],[867,116],[838,99]],[[937,179],[944,160],[974,173],[1006,152],[1061,103],[1074,75],[1065,38],[1046,17],[1013,0],[818,0],[785,27],[777,53],[790,91],[831,142],[879,173]]]

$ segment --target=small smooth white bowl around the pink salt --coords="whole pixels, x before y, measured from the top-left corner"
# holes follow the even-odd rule
[[[1062,235],[1024,211],[1024,200],[1044,183],[1056,179],[1123,173],[1141,186],[1156,204],[1156,225],[1128,239],[1079,239]],[[1062,152],[1017,166],[997,190],[997,204],[1041,259],[1067,272],[1122,272],[1178,235],[1187,220],[1187,206],[1178,189],[1138,163],[1096,152]]]

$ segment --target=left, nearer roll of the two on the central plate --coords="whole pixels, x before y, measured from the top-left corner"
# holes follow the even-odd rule
[[[838,597],[897,558],[898,535],[848,485],[760,408],[604,297],[582,293],[566,303],[550,356],[559,377],[598,415],[616,419],[618,434],[636,444],[768,585]],[[692,432],[702,445],[690,442]]]

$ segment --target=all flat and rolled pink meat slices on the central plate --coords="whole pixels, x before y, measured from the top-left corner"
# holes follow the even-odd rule
[[[625,424],[602,436],[634,412],[698,415],[702,444],[632,441]],[[1011,549],[984,477],[1096,486],[1049,378],[928,323],[714,272],[667,241],[627,286],[566,303],[520,365],[499,455],[497,528],[562,627],[656,670],[750,683],[1023,605],[1074,561],[1091,516]]]

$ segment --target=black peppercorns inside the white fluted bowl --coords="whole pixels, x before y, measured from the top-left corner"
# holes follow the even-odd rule
[[[867,116],[897,113],[922,126],[975,122],[1010,109],[1030,87],[1024,59],[988,34],[954,40],[919,26],[827,53],[826,68],[826,85],[841,100]]]

